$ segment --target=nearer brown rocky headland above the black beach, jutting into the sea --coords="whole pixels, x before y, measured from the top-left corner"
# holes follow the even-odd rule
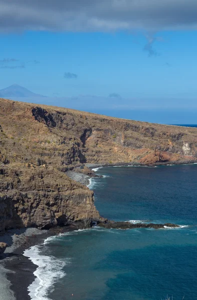
[[[51,167],[15,165],[0,169],[0,229],[91,227],[102,220],[93,191]]]

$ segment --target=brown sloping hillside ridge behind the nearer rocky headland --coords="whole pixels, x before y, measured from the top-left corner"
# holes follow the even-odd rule
[[[1,161],[116,163],[197,160],[197,129],[0,99]]]

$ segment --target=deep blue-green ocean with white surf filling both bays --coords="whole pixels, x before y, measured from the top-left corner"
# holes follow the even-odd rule
[[[197,164],[97,168],[100,214],[178,229],[93,227],[49,237],[25,255],[38,265],[33,300],[197,299]]]

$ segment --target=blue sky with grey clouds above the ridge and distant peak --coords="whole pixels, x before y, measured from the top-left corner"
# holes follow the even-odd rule
[[[196,0],[0,0],[0,89],[18,83],[46,104],[197,123],[196,30]]]

